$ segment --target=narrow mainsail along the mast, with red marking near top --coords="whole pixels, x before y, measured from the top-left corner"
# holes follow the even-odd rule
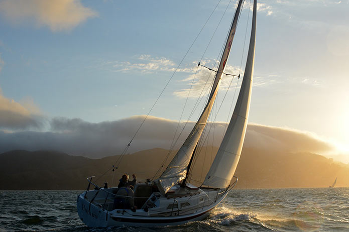
[[[170,164],[167,166],[165,171],[162,173],[160,178],[158,178],[155,181],[158,185],[159,190],[163,194],[166,193],[173,185],[183,180],[186,176],[187,166],[189,164],[190,158],[193,155],[193,151],[201,137],[203,129],[207,124],[208,116],[212,110],[214,100],[218,93],[221,76],[224,72],[224,67],[229,57],[232,40],[234,39],[234,36],[235,36],[242,3],[243,3],[243,0],[240,0],[238,3],[238,7],[231,24],[231,28],[226,40],[222,57],[220,59],[218,70],[214,78],[214,82],[212,85],[212,89],[211,89],[207,104],[203,112],[201,113],[199,120],[195,124],[194,128],[190,132],[187,139],[184,141],[181,148],[178,150],[178,152],[176,153],[176,155],[174,156]]]

